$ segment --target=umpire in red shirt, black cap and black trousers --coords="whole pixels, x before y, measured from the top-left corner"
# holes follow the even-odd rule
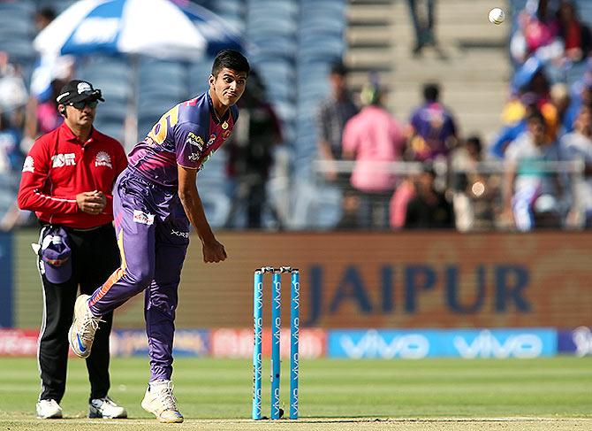
[[[93,127],[100,89],[70,81],[57,96],[64,123],[42,135],[29,151],[19,188],[19,207],[34,211],[42,225],[33,244],[43,284],[43,317],[38,360],[42,392],[37,417],[61,418],[65,392],[68,328],[80,292],[91,294],[119,266],[112,225],[112,188],[127,165],[121,144]],[[125,418],[127,412],[107,395],[109,335],[113,316],[96,332],[87,358],[90,418]]]

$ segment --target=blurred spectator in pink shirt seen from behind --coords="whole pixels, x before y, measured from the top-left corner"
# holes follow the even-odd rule
[[[347,121],[343,155],[355,160],[350,182],[360,192],[361,227],[389,227],[389,201],[397,177],[392,162],[404,150],[403,127],[383,107],[384,92],[378,86],[362,91],[365,107]]]

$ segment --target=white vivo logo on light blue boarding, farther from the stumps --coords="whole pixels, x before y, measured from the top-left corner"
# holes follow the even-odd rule
[[[543,352],[543,341],[537,335],[510,335],[505,342],[497,340],[490,331],[483,330],[473,342],[454,337],[454,347],[462,358],[537,358]]]

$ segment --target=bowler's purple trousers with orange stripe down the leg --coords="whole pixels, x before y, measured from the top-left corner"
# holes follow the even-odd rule
[[[189,220],[176,190],[164,189],[129,168],[113,190],[121,266],[90,298],[101,316],[145,291],[144,318],[150,381],[171,380],[178,282],[189,244]]]

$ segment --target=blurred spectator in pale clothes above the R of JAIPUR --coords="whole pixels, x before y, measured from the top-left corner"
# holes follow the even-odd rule
[[[505,152],[503,188],[505,223],[513,223],[520,231],[535,227],[558,226],[561,216],[561,183],[556,173],[549,172],[545,162],[558,162],[558,144],[547,135],[541,112],[531,112],[527,132],[510,144]]]

